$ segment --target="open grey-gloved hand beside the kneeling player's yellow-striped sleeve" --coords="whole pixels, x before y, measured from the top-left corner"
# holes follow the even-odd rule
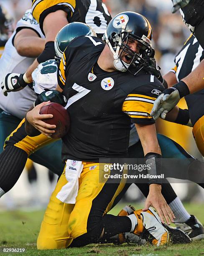
[[[179,100],[179,90],[174,87],[165,89],[155,100],[150,115],[153,116],[154,120],[157,120],[160,116],[165,119],[166,114],[176,106]]]

